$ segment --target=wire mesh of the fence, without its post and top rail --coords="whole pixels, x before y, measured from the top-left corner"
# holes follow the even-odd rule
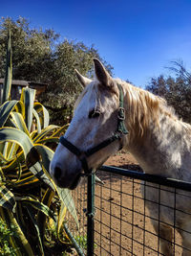
[[[181,255],[183,250],[191,255],[190,184],[138,172],[117,174],[110,168],[98,170],[96,175],[104,184],[96,183],[94,252],[89,255],[154,256],[168,255],[170,250],[171,255]],[[86,183],[74,195],[80,227],[73,234],[86,255]]]

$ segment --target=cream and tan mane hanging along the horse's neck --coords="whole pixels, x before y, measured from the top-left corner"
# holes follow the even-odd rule
[[[116,81],[126,88],[127,119],[131,133],[142,137],[151,124],[159,126],[159,116],[161,115],[168,116],[173,121],[181,122],[175,114],[174,108],[167,105],[164,99],[128,82],[118,79]]]

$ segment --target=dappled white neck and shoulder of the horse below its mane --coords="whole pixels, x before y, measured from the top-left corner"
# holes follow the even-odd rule
[[[153,125],[151,120],[142,140],[134,137],[129,151],[138,159],[145,173],[185,179],[179,172],[191,170],[191,128],[161,114],[158,124]]]

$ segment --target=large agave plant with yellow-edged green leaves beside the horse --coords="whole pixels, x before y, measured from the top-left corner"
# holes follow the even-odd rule
[[[71,192],[57,188],[49,175],[53,150],[48,145],[58,142],[67,126],[49,125],[49,113],[34,102],[33,89],[24,88],[20,101],[10,101],[10,93],[11,36],[0,106],[0,218],[15,227],[9,242],[16,255],[44,255],[51,219],[57,233],[66,209],[77,223]]]

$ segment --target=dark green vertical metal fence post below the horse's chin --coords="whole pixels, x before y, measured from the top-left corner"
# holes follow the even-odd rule
[[[87,193],[87,256],[92,256],[95,244],[95,174],[88,176]]]

